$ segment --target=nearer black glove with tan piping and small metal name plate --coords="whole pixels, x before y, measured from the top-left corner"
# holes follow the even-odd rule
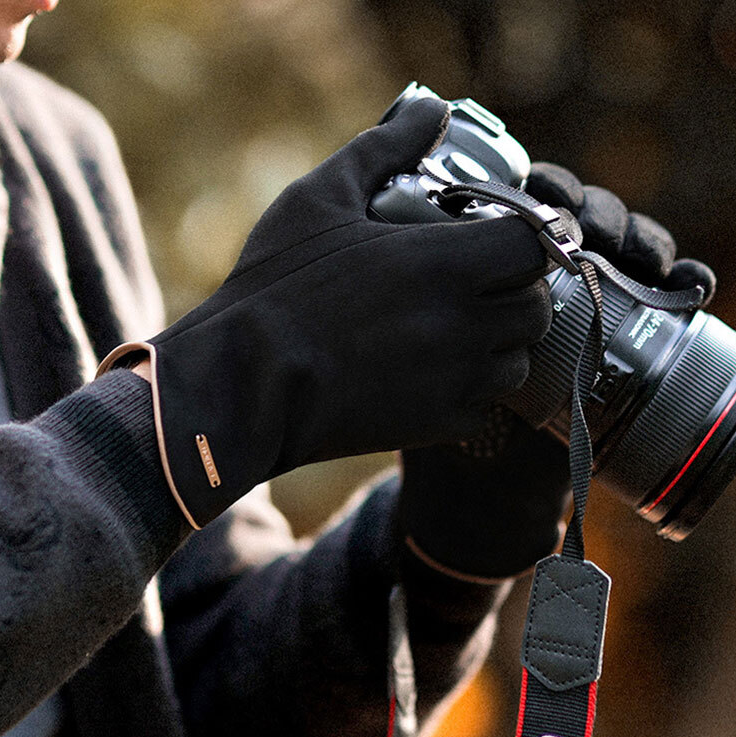
[[[271,205],[212,297],[103,362],[151,355],[164,469],[194,526],[299,465],[473,435],[523,383],[551,314],[534,231],[366,214],[447,115],[421,100],[355,138]]]

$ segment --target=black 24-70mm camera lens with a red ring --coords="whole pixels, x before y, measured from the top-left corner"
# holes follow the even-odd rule
[[[554,320],[508,401],[567,442],[593,305],[580,277],[548,277]],[[645,307],[601,278],[604,356],[586,407],[596,477],[674,540],[736,476],[736,332],[713,315]]]

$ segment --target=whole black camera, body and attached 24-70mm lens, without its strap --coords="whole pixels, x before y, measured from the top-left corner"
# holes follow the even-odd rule
[[[412,83],[382,122],[423,97],[437,95]],[[417,171],[397,174],[373,196],[372,217],[413,223],[512,214],[443,197],[457,184],[523,189],[530,172],[526,151],[498,118],[470,99],[449,105],[444,140]],[[530,350],[526,382],[503,402],[567,443],[575,365],[593,304],[580,275],[560,268],[546,279],[552,326]],[[646,307],[605,277],[600,288],[603,360],[586,407],[594,472],[659,534],[681,540],[736,477],[736,332],[703,311]]]

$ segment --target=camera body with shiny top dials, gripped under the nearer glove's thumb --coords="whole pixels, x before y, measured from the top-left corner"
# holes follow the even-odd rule
[[[393,118],[404,106],[433,97],[429,88],[412,82],[381,118]],[[371,200],[369,213],[390,223],[442,222],[461,218],[497,218],[504,207],[470,201],[461,211],[437,197],[451,184],[501,182],[523,189],[531,167],[524,147],[506,132],[495,115],[474,100],[454,100],[447,133],[437,148],[422,159],[416,172],[397,174]]]

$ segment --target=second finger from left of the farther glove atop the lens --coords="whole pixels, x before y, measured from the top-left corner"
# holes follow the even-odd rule
[[[578,221],[585,237],[583,248],[616,261],[629,227],[629,211],[613,192],[602,187],[586,186],[585,204]]]

